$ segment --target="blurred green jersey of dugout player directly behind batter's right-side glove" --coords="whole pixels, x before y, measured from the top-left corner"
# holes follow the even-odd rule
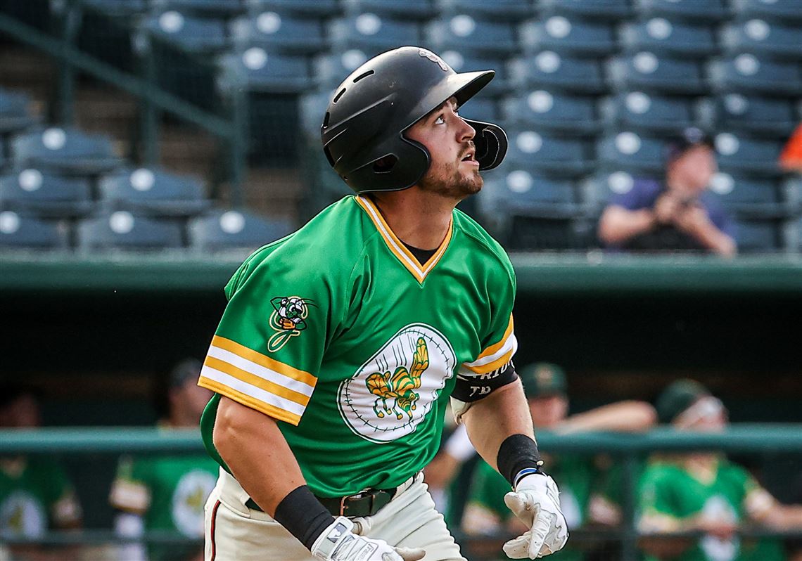
[[[571,528],[581,527],[587,515],[590,490],[595,477],[592,458],[565,455],[549,462],[549,475],[560,486],[560,509]],[[479,462],[474,472],[468,505],[476,504],[506,525],[515,515],[504,504],[504,495],[510,491],[509,482],[486,462]],[[554,561],[584,559],[581,551],[570,545],[553,554]]]

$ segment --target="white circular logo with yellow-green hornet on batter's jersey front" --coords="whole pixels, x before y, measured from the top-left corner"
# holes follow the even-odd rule
[[[407,325],[342,381],[340,414],[354,434],[371,442],[411,434],[454,375],[455,365],[454,349],[441,333],[429,325]]]

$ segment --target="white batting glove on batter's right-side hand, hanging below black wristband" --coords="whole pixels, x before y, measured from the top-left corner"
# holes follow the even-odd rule
[[[560,551],[568,541],[568,525],[560,511],[560,490],[548,475],[532,474],[504,495],[504,504],[532,530],[504,543],[512,559],[539,559]]]

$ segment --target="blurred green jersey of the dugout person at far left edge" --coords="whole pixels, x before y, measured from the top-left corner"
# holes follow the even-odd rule
[[[40,457],[0,461],[0,536],[34,538],[80,519],[75,490],[57,462]]]

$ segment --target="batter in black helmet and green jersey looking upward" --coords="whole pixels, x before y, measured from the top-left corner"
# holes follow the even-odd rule
[[[512,266],[455,209],[506,151],[457,112],[493,75],[405,46],[334,91],[323,151],[356,195],[245,260],[201,370],[206,559],[464,561],[420,474],[449,398],[530,528],[504,551],[565,544],[512,365]]]

